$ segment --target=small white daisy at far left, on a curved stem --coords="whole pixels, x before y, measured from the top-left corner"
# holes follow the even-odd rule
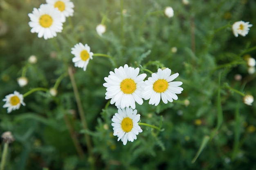
[[[11,113],[12,110],[18,110],[20,108],[20,104],[23,106],[26,105],[23,102],[23,95],[17,91],[14,91],[13,94],[5,96],[3,101],[5,102],[3,108],[7,108],[7,113]]]

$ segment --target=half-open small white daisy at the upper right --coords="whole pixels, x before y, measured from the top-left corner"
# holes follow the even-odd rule
[[[232,30],[233,30],[235,37],[238,37],[238,34],[245,37],[245,35],[248,34],[249,28],[251,26],[252,26],[252,24],[249,24],[249,22],[237,21],[232,25]]]

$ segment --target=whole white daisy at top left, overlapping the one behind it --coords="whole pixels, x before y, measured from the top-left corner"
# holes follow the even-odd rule
[[[38,37],[48,38],[56,37],[63,29],[63,15],[50,4],[41,4],[39,9],[34,8],[29,13],[29,26],[31,33],[38,33]]]

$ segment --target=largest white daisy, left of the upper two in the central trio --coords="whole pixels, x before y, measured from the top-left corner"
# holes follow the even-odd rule
[[[105,99],[111,99],[110,104],[117,107],[125,108],[131,106],[135,109],[135,102],[143,103],[141,91],[144,86],[146,74],[139,74],[139,68],[120,66],[115,68],[115,73],[110,71],[110,75],[105,77],[106,83],[103,84],[107,88]]]

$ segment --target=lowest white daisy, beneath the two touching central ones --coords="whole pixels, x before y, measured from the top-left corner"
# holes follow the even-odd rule
[[[124,145],[127,144],[127,141],[133,142],[134,139],[137,139],[139,132],[142,132],[138,121],[140,119],[140,115],[137,114],[137,110],[132,110],[132,108],[119,108],[118,113],[112,118],[111,125],[113,126],[114,136],[117,136],[119,141],[123,142]]]

